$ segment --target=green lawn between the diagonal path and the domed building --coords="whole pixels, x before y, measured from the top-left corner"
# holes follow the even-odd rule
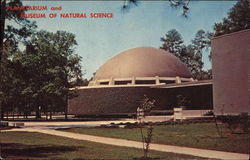
[[[141,140],[139,128],[71,128],[65,131]],[[220,137],[214,123],[160,125],[154,126],[153,143],[248,153],[249,136],[231,134],[230,130],[223,127],[223,137]]]

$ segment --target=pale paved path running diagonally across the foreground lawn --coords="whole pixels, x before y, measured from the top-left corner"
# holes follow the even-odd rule
[[[99,137],[99,136],[91,136],[85,134],[78,133],[69,133],[51,129],[39,129],[39,128],[21,128],[21,129],[12,129],[7,131],[26,131],[26,132],[39,132],[44,134],[56,135],[61,137],[73,138],[78,140],[86,140],[91,142],[103,143],[108,145],[122,146],[122,147],[133,147],[133,148],[142,148],[142,143],[137,141],[125,140],[125,139],[117,139],[117,138],[107,138],[107,137]],[[172,146],[172,145],[162,145],[162,144],[151,144],[150,149],[161,151],[161,152],[172,152],[178,154],[186,154],[198,157],[205,158],[216,158],[216,159],[233,159],[233,160],[248,160],[248,154],[241,153],[231,153],[231,152],[222,152],[215,150],[207,150],[207,149],[196,149],[189,147],[180,147],[180,146]]]

